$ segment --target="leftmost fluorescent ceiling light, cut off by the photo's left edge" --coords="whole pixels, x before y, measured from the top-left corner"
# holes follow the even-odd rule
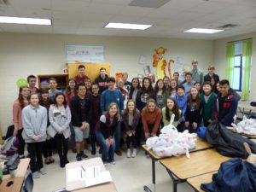
[[[15,24],[32,24],[32,25],[51,26],[51,20],[49,20],[49,19],[35,19],[35,18],[23,18],[23,17],[0,16],[0,23],[15,23]]]

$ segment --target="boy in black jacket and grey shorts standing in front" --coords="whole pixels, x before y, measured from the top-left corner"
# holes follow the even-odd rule
[[[88,156],[84,154],[85,139],[89,138],[90,133],[90,118],[91,118],[91,103],[86,97],[86,88],[84,84],[78,84],[78,94],[71,99],[71,114],[72,125],[75,132],[75,141],[77,149],[77,160],[86,159]]]

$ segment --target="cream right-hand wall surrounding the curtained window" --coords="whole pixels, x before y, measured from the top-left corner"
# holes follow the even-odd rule
[[[250,34],[244,34],[232,38],[223,38],[214,41],[214,54],[213,54],[213,63],[216,66],[216,73],[220,75],[220,79],[226,78],[226,45],[230,41],[239,41],[242,39],[253,38],[253,56],[252,56],[252,67],[251,67],[251,91],[250,98],[247,102],[256,101],[256,79],[254,78],[254,73],[256,72],[256,32]]]

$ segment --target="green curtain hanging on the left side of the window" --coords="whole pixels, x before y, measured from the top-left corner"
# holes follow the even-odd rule
[[[235,65],[235,42],[227,44],[226,56],[226,79],[230,81],[230,87],[233,86],[234,65]]]

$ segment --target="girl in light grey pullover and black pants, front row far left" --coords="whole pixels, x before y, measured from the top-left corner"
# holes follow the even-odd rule
[[[47,109],[39,105],[38,94],[28,96],[30,104],[22,110],[22,123],[24,138],[30,156],[30,168],[32,177],[40,177],[46,174],[43,165],[42,148],[46,139]]]

